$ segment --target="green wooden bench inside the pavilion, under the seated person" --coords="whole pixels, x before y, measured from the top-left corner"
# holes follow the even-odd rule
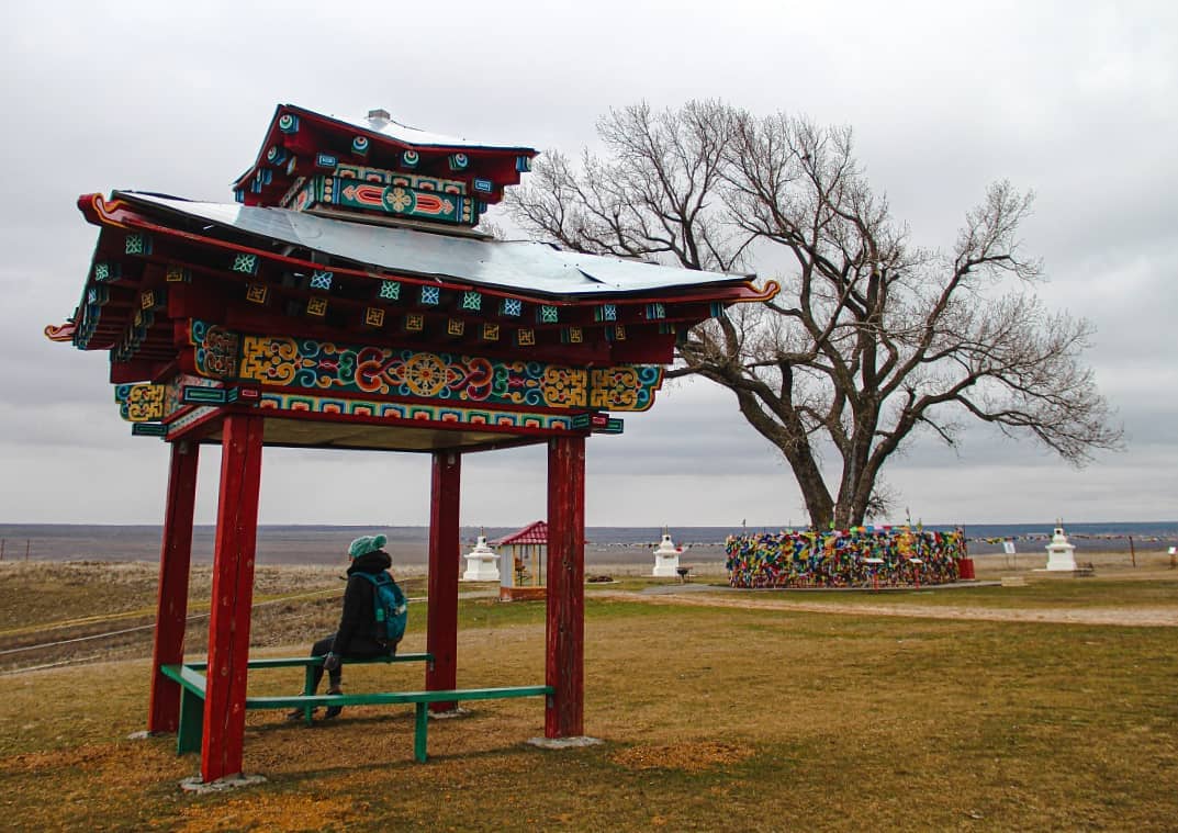
[[[348,665],[378,662],[432,662],[430,654],[398,654],[382,656],[375,660],[348,660]],[[380,692],[375,694],[307,694],[311,690],[311,674],[317,665],[323,665],[322,656],[302,656],[291,659],[250,660],[249,668],[306,668],[306,687],[304,694],[290,696],[246,696],[245,708],[302,708],[310,722],[311,712],[318,706],[380,706],[390,703],[413,703],[413,758],[424,763],[426,760],[426,735],[429,725],[429,705],[435,702],[458,702],[465,700],[503,700],[508,698],[535,698],[552,693],[551,686],[516,686],[510,688],[457,688],[437,692]],[[188,662],[185,665],[160,666],[164,676],[180,685],[180,725],[176,736],[176,752],[199,752],[204,734],[205,720],[205,675],[206,662]]]

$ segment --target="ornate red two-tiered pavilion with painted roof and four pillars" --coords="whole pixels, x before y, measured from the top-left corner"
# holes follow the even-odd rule
[[[85,194],[81,300],[132,432],[171,447],[148,726],[176,732],[197,462],[221,447],[200,776],[240,773],[267,445],[432,456],[425,673],[455,687],[462,456],[547,443],[544,733],[583,733],[584,441],[651,406],[676,338],[748,276],[503,242],[475,226],[536,151],[280,105],[236,204]],[[445,710],[451,703],[434,703]]]

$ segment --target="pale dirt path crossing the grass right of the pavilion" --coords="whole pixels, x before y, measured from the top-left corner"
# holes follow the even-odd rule
[[[1130,627],[1178,628],[1174,608],[979,608],[922,604],[846,604],[840,602],[803,602],[786,599],[747,599],[710,593],[646,594],[604,590],[595,597],[647,604],[695,604],[700,607],[739,608],[744,610],[796,610],[868,616],[908,616],[914,619],[978,620],[985,622],[1051,622],[1055,624],[1123,624]]]

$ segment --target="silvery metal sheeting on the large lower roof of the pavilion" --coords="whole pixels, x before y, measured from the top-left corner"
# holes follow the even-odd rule
[[[114,194],[225,229],[311,249],[332,257],[416,276],[545,295],[626,295],[742,283],[749,276],[700,272],[582,254],[529,240],[479,240],[348,220],[287,209],[193,203],[121,191]]]

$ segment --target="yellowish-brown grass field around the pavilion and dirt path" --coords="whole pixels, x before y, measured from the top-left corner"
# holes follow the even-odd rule
[[[45,639],[60,633],[48,623],[95,614],[137,621],[154,575],[110,570],[74,568],[78,587],[0,573],[0,648],[31,639],[15,623]],[[270,603],[256,653],[303,653],[330,630],[339,589],[330,570],[259,570]],[[966,603],[961,593],[977,594],[971,607],[1178,607],[1164,576],[887,601]],[[714,609],[589,590],[585,728],[601,746],[528,746],[543,733],[531,700],[431,725],[426,765],[412,762],[409,708],[348,709],[310,729],[250,713],[245,769],[269,781],[204,796],[178,789],[197,759],[177,758],[173,739],[125,739],[146,710],[150,640],[137,632],[102,661],[5,675],[0,818],[20,829],[1176,828],[1174,628],[790,611],[759,606],[766,595]],[[424,648],[424,607],[405,650]],[[459,686],[542,682],[543,622],[541,603],[464,600]],[[66,632],[79,627],[91,626]],[[298,685],[251,677],[257,693]],[[421,669],[351,668],[345,686],[416,688]]]

